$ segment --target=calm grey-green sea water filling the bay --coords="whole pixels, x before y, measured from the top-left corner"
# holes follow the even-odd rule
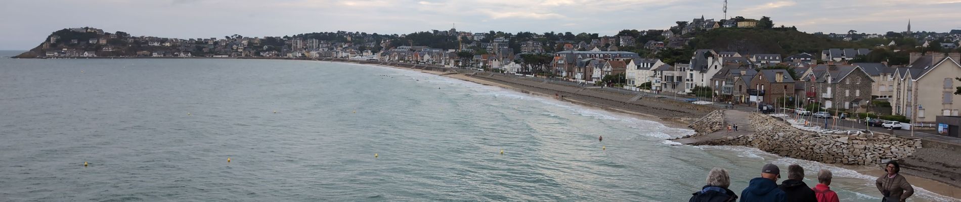
[[[685,201],[710,168],[740,193],[770,162],[879,200],[850,169],[675,146],[693,131],[357,64],[0,58],[0,108],[0,201]]]

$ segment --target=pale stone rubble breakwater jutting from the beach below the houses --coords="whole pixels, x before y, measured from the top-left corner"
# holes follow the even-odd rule
[[[755,133],[704,141],[698,146],[751,146],[780,156],[827,164],[871,165],[904,159],[921,140],[887,135],[830,135],[803,131],[774,117],[752,113]]]

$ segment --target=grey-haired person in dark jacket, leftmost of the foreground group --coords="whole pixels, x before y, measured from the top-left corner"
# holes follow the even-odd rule
[[[727,190],[730,186],[730,177],[724,168],[712,168],[707,173],[707,185],[701,191],[694,192],[689,202],[734,202],[737,201],[737,194]]]

